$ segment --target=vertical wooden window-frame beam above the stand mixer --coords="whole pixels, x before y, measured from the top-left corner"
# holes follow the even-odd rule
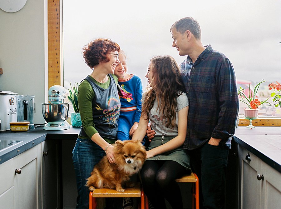
[[[48,87],[61,85],[60,0],[48,0]]]

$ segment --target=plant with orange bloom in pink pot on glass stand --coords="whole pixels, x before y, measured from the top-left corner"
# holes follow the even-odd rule
[[[249,92],[248,92],[248,97],[245,95],[245,89],[240,87],[238,89],[238,95],[241,97],[241,99],[239,101],[244,102],[249,108],[244,108],[244,117],[248,120],[250,120],[250,125],[247,126],[249,128],[254,128],[254,126],[252,126],[252,120],[257,119],[258,118],[258,113],[259,113],[259,109],[258,107],[261,106],[264,103],[269,103],[267,102],[267,100],[269,98],[267,98],[264,101],[259,101],[259,99],[256,98],[256,94],[259,90],[259,86],[261,83],[265,82],[264,80],[261,80],[254,88],[254,92],[250,91],[250,84],[249,84]],[[270,104],[270,103],[269,103]]]

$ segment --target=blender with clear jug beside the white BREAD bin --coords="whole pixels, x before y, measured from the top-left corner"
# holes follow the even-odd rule
[[[17,95],[17,121],[30,122],[29,129],[34,129],[33,112],[34,112],[33,95]]]

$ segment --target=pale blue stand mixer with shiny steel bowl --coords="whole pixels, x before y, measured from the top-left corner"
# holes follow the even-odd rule
[[[49,88],[49,102],[42,103],[42,114],[47,122],[43,128],[45,130],[66,130],[70,125],[66,121],[68,118],[68,103],[64,103],[66,89],[62,86],[52,86]]]

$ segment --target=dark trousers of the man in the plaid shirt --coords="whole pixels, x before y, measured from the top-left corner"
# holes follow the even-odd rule
[[[200,209],[225,207],[225,187],[229,148],[206,142],[201,147],[189,150],[192,171],[199,178]]]

